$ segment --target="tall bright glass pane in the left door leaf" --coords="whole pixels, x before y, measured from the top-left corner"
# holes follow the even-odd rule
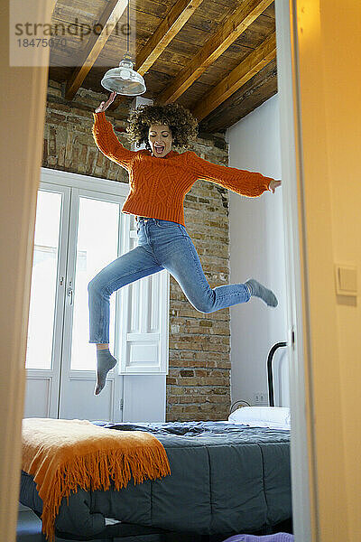
[[[26,369],[51,369],[61,198],[38,191]]]

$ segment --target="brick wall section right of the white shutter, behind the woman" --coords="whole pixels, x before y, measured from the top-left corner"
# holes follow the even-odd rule
[[[196,143],[193,150],[215,163],[224,151]],[[185,222],[210,286],[229,282],[227,191],[196,182],[184,201]],[[170,371],[167,419],[227,419],[230,404],[229,310],[199,313],[171,277]]]

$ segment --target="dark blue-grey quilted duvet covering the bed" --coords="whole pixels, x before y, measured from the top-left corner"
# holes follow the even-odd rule
[[[105,518],[197,534],[252,532],[292,517],[288,431],[224,422],[108,424],[143,430],[163,444],[171,475],[121,491],[82,491],[64,499],[55,526],[92,537]],[[32,476],[22,472],[20,501],[42,512]]]

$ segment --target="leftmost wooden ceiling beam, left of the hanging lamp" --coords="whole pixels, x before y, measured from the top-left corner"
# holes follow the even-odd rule
[[[106,4],[106,9],[101,14],[99,20],[99,25],[101,25],[103,30],[99,35],[95,33],[90,34],[83,61],[81,61],[81,65],[72,72],[67,81],[65,89],[66,99],[71,100],[76,95],[82,82],[87,77],[89,70],[91,70],[94,62],[97,61],[97,57],[104,48],[110,34],[116,27],[116,23],[124,14],[127,5],[128,0],[109,0]]]

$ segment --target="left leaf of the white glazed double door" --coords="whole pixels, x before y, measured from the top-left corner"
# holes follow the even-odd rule
[[[65,276],[70,190],[48,189],[38,192],[36,209],[24,417],[58,417],[65,299],[58,277]]]

